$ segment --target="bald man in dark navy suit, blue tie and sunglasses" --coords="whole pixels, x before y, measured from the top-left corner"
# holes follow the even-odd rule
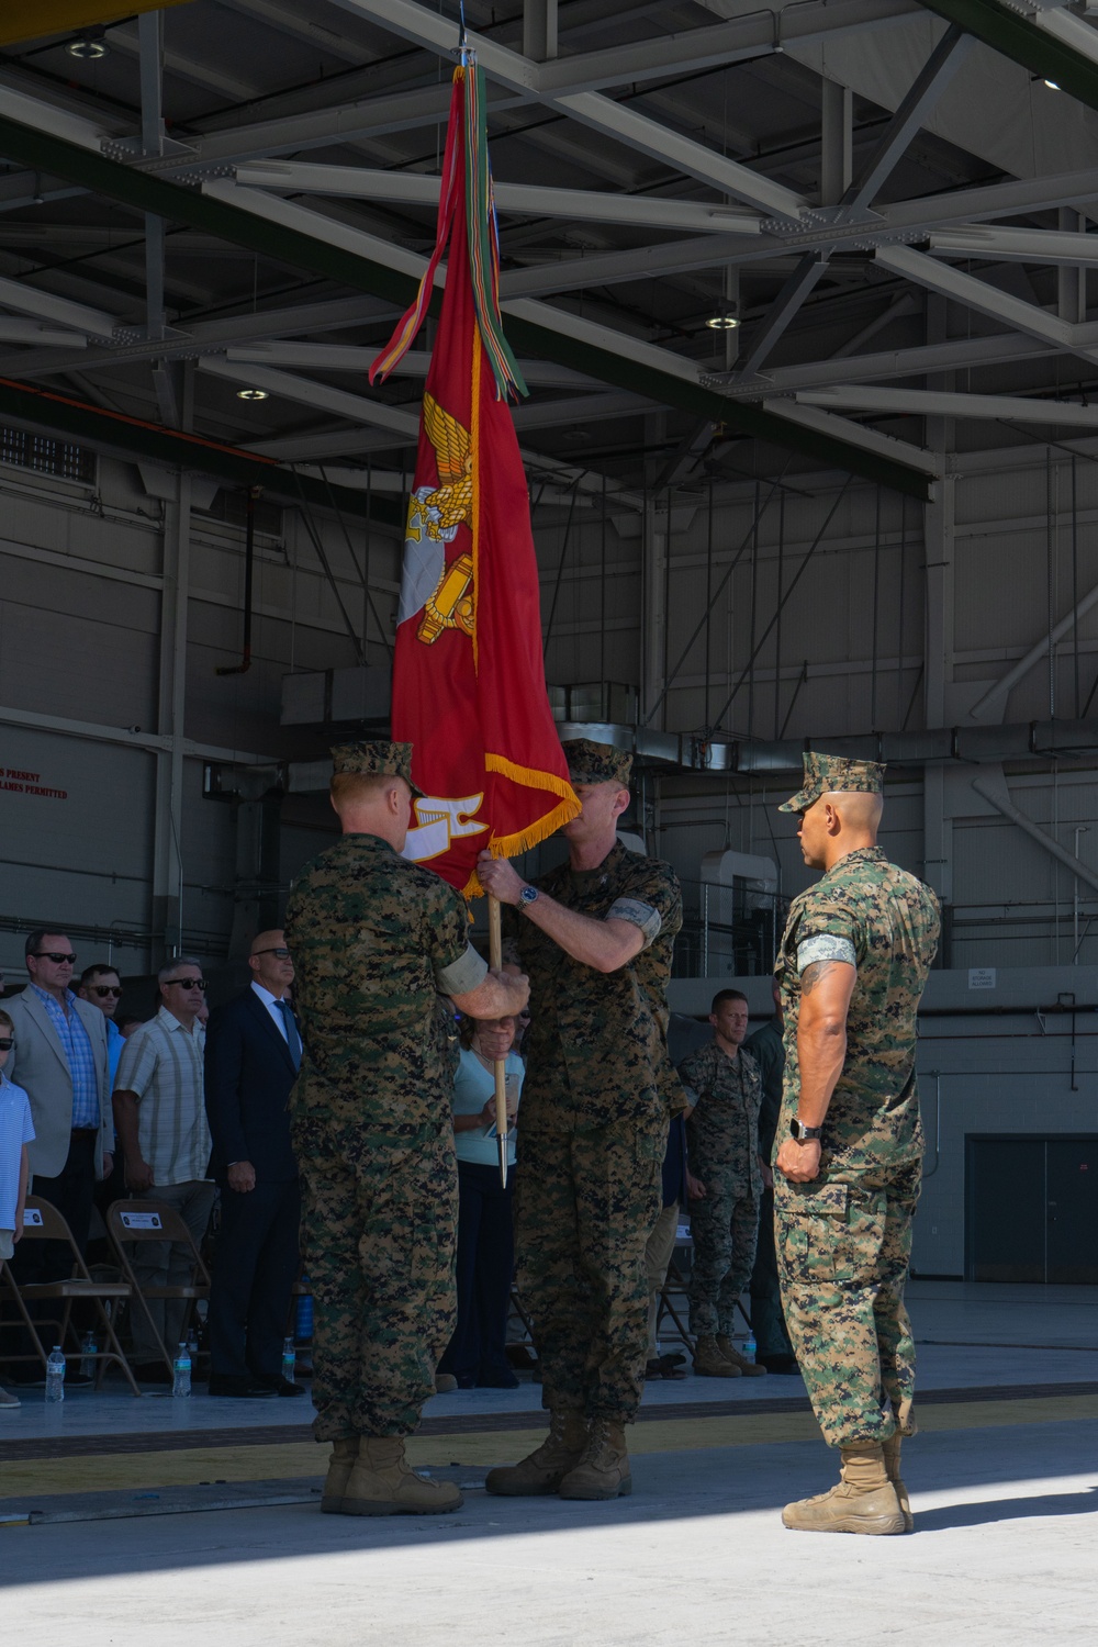
[[[221,1186],[209,1393],[305,1395],[281,1377],[301,1217],[286,1110],[301,1036],[286,1000],[293,962],[283,934],[260,932],[249,967],[250,987],[217,1006],[206,1031],[211,1169]]]

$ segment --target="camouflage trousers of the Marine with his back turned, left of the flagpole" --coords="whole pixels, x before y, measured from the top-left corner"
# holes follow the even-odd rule
[[[316,1304],[313,1433],[410,1435],[458,1318],[453,1131],[395,1138],[301,1117],[293,1141]]]

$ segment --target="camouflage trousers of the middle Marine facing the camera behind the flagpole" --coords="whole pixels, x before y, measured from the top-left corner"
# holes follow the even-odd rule
[[[640,1405],[665,1146],[667,1123],[519,1133],[519,1290],[550,1410],[630,1423]]]

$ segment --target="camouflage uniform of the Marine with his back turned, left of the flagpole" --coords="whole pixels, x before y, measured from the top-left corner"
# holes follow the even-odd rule
[[[290,1103],[316,1298],[314,1435],[403,1436],[456,1319],[436,990],[474,988],[486,967],[469,962],[458,893],[377,835],[344,835],[305,866],[285,931],[305,1043]]]

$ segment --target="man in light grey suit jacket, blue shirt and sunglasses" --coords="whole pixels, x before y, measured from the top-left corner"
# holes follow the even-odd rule
[[[97,1178],[110,1173],[114,1115],[104,1015],[69,990],[76,957],[61,932],[26,939],[30,983],[5,1001],[15,1024],[8,1079],[26,1089],[35,1122],[33,1191],[63,1214],[84,1252]],[[54,1242],[20,1242],[21,1281],[46,1280]],[[67,1273],[67,1268],[66,1271]]]

